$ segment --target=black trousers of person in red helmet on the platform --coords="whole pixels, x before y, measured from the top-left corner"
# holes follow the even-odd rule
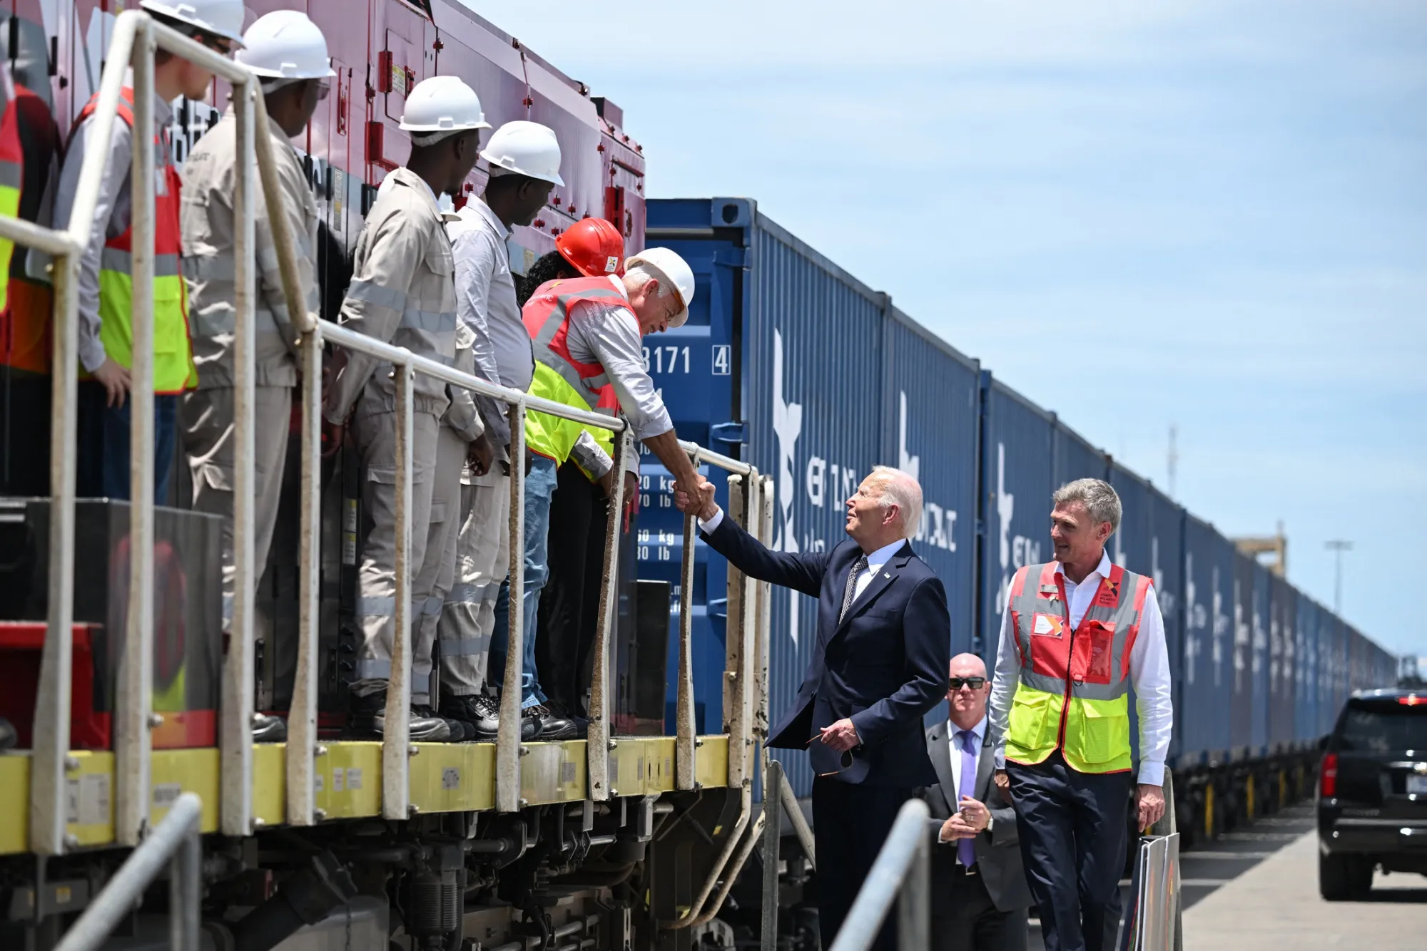
[[[549,503],[549,579],[539,596],[535,669],[554,703],[585,713],[592,649],[599,626],[599,582],[609,503],[604,490],[567,462]]]

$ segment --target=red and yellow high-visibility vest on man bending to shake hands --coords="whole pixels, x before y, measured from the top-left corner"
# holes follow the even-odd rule
[[[609,278],[549,281],[537,288],[525,302],[521,318],[535,344],[535,375],[529,392],[575,409],[614,416],[619,412],[619,401],[605,368],[584,364],[569,355],[569,312],[584,302],[629,307],[629,299]],[[527,445],[561,465],[569,458],[581,429],[588,429],[595,442],[614,458],[611,431],[581,426],[534,409],[525,413]]]

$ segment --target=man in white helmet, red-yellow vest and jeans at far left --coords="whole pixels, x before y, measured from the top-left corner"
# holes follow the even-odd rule
[[[241,46],[241,0],[186,0],[140,4],[154,20],[193,37],[217,53]],[[203,100],[213,73],[158,50],[154,53],[154,153],[163,171],[154,183],[154,500],[168,495],[173,469],[178,395],[197,382],[188,342],[188,299],[180,269],[181,228],[178,170],[168,145],[168,106],[180,96]],[[88,138],[96,93],[80,111],[60,170],[54,220],[68,222],[80,168],[90,148],[106,148],[108,160],[94,205],[90,242],[78,268],[78,351],[86,376],[78,385],[80,496],[127,499],[130,449],[130,368],[133,366],[133,278],[130,228],[133,195],[134,90],[124,87],[118,117],[107,144]],[[141,130],[148,134],[147,130]],[[147,235],[140,235],[146,240]]]

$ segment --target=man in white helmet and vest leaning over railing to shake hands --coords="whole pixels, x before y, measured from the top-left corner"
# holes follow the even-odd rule
[[[669,411],[664,405],[644,364],[645,334],[682,327],[694,301],[694,271],[668,248],[648,248],[625,262],[622,277],[552,281],[525,304],[525,329],[535,342],[535,379],[531,395],[578,409],[614,415],[624,412],[635,438],[659,458],[675,479],[694,479],[689,458],[679,448]],[[612,451],[612,433],[601,431],[605,455]],[[524,577],[524,676],[521,706],[542,706],[535,670],[535,630],[541,589],[547,580],[548,539],[579,545],[551,533],[549,508],[557,486],[557,469],[574,452],[586,429],[548,413],[527,413],[527,439],[535,452],[525,480],[525,577]],[[692,483],[688,483],[692,485]],[[497,605],[497,629],[509,610],[502,592]],[[505,667],[499,639],[491,649],[492,676]]]

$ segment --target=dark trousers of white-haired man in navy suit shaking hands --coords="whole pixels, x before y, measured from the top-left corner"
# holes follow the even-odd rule
[[[818,931],[831,948],[848,910],[876,861],[910,788],[853,786],[818,777],[812,783],[812,828],[818,848]],[[896,951],[896,911],[888,915],[875,951]]]

